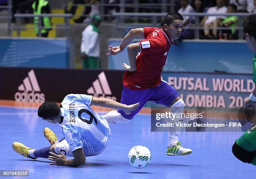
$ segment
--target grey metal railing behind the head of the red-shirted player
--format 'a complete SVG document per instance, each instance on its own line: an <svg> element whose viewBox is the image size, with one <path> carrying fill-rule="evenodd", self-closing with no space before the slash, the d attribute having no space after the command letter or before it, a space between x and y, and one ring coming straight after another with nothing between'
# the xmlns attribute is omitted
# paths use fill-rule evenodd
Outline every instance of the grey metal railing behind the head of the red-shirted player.
<svg viewBox="0 0 256 179"><path fill-rule="evenodd" d="M243 27L242 27L242 22L243 18L248 16L250 13L226 13L226 14L207 14L207 13L189 13L189 14L182 14L183 16L189 16L189 17L195 17L195 26L192 27L184 27L183 29L194 29L195 30L195 39L199 39L199 31L203 29L210 29L210 30L230 30L231 28L225 28L225 27L209 27L205 28L200 26L200 20L199 17L205 17L205 16L232 16L236 15L238 16L238 27L232 28L236 29L239 31L238 33L238 38L243 39ZM147 24L149 26L154 26L154 27L160 27L159 23L157 22L157 19L159 18L164 18L166 13L113 13L113 16L115 16L115 30L118 28L121 29L129 29L129 28L140 28L143 27L143 25L146 24L125 24L125 18L143 18L143 17L149 17L151 18L152 22L150 24ZM116 33L115 33L116 34Z"/></svg>

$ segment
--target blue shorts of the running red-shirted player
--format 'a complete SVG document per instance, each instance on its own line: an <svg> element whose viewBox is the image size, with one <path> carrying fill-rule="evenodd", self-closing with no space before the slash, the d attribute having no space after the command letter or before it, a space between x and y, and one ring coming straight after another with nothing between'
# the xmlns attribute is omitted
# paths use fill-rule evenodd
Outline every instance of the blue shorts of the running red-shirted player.
<svg viewBox="0 0 256 179"><path fill-rule="evenodd" d="M177 91L163 80L161 80L161 83L157 87L145 90L131 90L127 87L123 87L121 103L132 105L139 102L140 106L137 110L132 111L130 115L126 115L123 110L118 110L118 113L126 119L132 119L140 112L146 102L152 101L169 107L176 97L179 97Z"/></svg>

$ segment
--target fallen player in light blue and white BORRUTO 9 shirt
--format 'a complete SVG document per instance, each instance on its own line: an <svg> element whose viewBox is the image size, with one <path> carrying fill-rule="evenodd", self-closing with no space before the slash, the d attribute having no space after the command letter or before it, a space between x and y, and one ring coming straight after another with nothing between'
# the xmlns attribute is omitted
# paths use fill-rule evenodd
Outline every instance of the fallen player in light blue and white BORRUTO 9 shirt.
<svg viewBox="0 0 256 179"><path fill-rule="evenodd" d="M14 142L13 149L31 159L48 158L53 161L50 165L84 164L85 157L99 155L105 150L110 135L108 118L95 113L90 105L120 109L130 114L138 108L139 103L125 105L105 98L80 94L67 95L60 106L55 102L44 102L38 108L38 116L49 123L59 123L64 138L58 141L57 136L49 128L45 128L44 136L51 146L35 150ZM67 159L66 156L74 158Z"/></svg>

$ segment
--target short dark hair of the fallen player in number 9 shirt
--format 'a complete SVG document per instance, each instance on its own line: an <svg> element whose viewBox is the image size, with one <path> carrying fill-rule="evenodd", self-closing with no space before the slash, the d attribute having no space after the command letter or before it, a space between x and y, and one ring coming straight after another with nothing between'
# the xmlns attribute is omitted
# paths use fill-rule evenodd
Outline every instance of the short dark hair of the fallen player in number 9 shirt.
<svg viewBox="0 0 256 179"><path fill-rule="evenodd" d="M52 101L46 101L38 108L38 116L40 118L49 119L53 118L61 112L60 107Z"/></svg>

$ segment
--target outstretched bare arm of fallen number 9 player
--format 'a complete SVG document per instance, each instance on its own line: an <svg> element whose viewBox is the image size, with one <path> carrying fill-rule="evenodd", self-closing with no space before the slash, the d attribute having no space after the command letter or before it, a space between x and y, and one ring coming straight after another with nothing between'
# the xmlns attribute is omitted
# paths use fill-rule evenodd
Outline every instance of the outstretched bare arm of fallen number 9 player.
<svg viewBox="0 0 256 179"><path fill-rule="evenodd" d="M125 112L125 114L131 114L131 112L133 110L138 109L140 103L138 102L138 103L133 104L133 105L125 105L125 104L122 104L120 102L116 102L114 100L93 97L91 105L101 106L101 107L109 107L109 108L113 108L113 109L119 109L119 110L123 110Z"/></svg>

